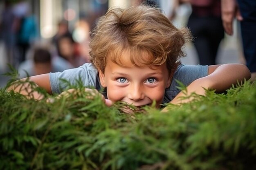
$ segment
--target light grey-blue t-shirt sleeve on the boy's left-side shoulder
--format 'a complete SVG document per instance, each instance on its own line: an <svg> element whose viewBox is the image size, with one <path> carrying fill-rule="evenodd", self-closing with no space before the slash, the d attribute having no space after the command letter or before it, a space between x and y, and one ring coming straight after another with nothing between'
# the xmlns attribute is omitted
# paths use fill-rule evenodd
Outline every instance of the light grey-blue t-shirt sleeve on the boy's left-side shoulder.
<svg viewBox="0 0 256 170"><path fill-rule="evenodd" d="M79 79L83 82L83 86L96 87L98 71L92 64L83 64L78 68L72 68L63 72L50 73L49 79L52 93L61 93L68 88L68 85L76 85ZM65 83L62 79L67 80Z"/></svg>

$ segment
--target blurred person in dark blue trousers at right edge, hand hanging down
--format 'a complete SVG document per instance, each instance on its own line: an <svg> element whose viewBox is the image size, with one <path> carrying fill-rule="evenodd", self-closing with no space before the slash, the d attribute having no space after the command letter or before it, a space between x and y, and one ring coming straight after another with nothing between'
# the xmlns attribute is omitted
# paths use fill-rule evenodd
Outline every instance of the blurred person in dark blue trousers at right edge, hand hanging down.
<svg viewBox="0 0 256 170"><path fill-rule="evenodd" d="M233 35L233 20L240 21L246 66L256 80L256 0L221 0L222 21L225 32Z"/></svg>

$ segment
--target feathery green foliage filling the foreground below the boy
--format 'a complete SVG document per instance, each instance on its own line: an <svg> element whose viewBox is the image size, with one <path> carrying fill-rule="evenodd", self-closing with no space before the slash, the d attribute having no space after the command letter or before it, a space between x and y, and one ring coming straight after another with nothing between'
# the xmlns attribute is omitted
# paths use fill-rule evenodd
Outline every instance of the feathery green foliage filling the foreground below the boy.
<svg viewBox="0 0 256 170"><path fill-rule="evenodd" d="M135 114L84 91L47 102L35 90L44 99L0 89L1 170L256 169L256 84Z"/></svg>

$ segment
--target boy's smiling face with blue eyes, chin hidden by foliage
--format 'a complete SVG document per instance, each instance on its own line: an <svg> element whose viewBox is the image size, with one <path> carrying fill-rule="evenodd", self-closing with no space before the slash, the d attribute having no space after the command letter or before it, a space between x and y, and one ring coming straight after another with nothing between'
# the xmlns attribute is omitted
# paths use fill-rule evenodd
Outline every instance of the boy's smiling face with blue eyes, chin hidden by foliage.
<svg viewBox="0 0 256 170"><path fill-rule="evenodd" d="M129 58L125 55L122 57ZM100 82L107 88L108 99L137 107L150 105L155 100L156 106L159 107L165 88L171 84L166 64L138 67L132 66L129 59L123 62L127 67L107 60L105 73L99 71Z"/></svg>

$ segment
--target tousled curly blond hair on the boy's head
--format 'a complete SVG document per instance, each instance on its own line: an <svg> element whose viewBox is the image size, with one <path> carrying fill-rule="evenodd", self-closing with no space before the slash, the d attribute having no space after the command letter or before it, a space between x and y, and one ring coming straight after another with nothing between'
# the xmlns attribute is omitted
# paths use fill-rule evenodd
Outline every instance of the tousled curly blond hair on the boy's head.
<svg viewBox="0 0 256 170"><path fill-rule="evenodd" d="M160 9L143 5L109 9L92 34L90 59L103 73L107 57L124 66L122 54L128 52L132 64L145 66L166 62L172 74L180 64L179 58L184 56L182 46L191 38L187 28L176 28ZM143 57L145 53L150 60Z"/></svg>

